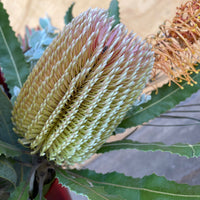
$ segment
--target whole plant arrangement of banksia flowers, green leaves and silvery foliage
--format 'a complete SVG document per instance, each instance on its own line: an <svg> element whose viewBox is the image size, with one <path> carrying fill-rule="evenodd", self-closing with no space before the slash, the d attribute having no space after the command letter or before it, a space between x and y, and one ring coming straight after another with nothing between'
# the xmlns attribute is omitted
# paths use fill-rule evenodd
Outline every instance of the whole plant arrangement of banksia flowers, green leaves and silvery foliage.
<svg viewBox="0 0 200 200"><path fill-rule="evenodd" d="M199 185L74 167L119 149L199 157L198 143L106 141L200 89L200 1L146 40L127 34L117 0L75 18L73 6L61 32L44 18L16 37L0 2L0 199L71 199L68 189L92 200L200 199ZM167 83L158 88L160 76Z"/></svg>

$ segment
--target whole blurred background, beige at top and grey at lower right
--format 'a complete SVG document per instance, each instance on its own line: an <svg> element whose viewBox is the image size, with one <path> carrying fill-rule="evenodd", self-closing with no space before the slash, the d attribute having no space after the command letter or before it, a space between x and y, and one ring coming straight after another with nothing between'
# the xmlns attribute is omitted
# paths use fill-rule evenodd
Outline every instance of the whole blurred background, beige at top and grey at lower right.
<svg viewBox="0 0 200 200"><path fill-rule="evenodd" d="M71 0L2 0L5 8L10 15L10 23L16 33L24 34L25 25L37 27L40 17L48 14L52 19L52 24L60 30L64 26L64 15L72 4ZM171 19L175 15L178 5L184 3L183 0L119 0L121 22L128 30L133 30L138 35L145 38L147 35L156 33L158 26L165 19ZM109 0L79 0L75 2L73 15L89 9L100 7L107 9ZM183 91L184 92L184 91ZM194 94L181 105L197 104L200 102L200 92ZM182 108L183 109L183 108ZM187 107L185 108L187 109ZM200 107L194 109L200 110ZM194 113L187 114L194 117ZM199 113L196 113L199 117ZM150 124L176 124L189 123L187 120L169 121L157 118ZM140 142L163 142L166 144L174 143L197 143L200 142L199 125L185 127L156 127L143 126L128 136L133 129L117 138L128 137ZM79 166L80 167L80 166ZM187 159L172 155L167 152L139 152L136 150L113 151L101 156L95 156L81 167L87 167L97 172L107 173L118 171L127 176L143 177L152 173L166 176L169 180L181 183L200 184L200 159ZM85 200L72 193L74 200Z"/></svg>

